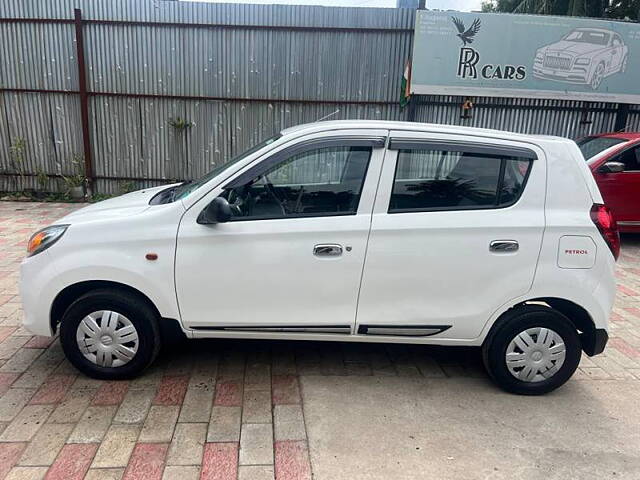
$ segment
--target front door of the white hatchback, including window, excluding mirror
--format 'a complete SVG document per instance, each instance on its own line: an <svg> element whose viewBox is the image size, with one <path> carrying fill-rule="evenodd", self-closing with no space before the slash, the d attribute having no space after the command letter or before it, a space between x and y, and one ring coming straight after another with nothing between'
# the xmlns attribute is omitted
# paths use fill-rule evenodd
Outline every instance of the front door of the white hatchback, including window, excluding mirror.
<svg viewBox="0 0 640 480"><path fill-rule="evenodd" d="M298 142L196 203L176 253L184 326L350 334L383 146L337 134ZM231 221L198 224L218 195Z"/></svg>

